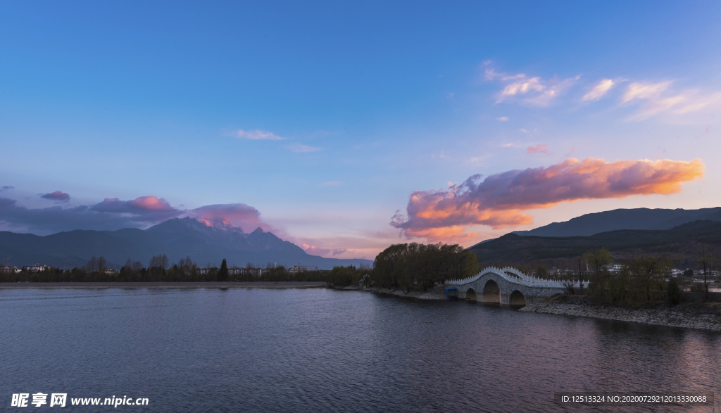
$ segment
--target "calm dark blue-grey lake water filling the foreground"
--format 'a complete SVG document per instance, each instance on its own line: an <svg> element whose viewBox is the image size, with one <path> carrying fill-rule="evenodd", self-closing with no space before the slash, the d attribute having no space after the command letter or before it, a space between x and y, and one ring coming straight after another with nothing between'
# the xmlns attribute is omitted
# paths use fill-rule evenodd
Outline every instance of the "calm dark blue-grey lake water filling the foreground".
<svg viewBox="0 0 721 413"><path fill-rule="evenodd" d="M5 407L42 391L148 397L146 412L579 412L554 393L721 394L721 334L464 301L0 290L0 314Z"/></svg>

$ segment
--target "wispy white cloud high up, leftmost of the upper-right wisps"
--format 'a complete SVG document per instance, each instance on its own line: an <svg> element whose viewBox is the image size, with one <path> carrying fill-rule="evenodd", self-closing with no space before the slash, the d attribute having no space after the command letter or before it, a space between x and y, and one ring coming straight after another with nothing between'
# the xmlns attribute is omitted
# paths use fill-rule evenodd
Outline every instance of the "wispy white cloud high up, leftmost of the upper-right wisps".
<svg viewBox="0 0 721 413"><path fill-rule="evenodd" d="M500 81L505 86L496 96L496 103L504 102L507 99L523 97L520 102L531 106L549 106L554 99L575 84L580 76L569 79L541 79L539 76L526 76L526 74L503 74L492 68L486 68L485 79L487 81Z"/></svg>

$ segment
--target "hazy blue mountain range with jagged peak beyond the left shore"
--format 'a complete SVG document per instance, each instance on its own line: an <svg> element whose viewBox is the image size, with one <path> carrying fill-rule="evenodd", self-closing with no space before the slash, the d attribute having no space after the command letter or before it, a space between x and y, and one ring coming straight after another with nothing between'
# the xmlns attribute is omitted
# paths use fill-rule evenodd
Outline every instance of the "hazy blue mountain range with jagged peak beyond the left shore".
<svg viewBox="0 0 721 413"><path fill-rule="evenodd" d="M71 268L103 256L119 267L130 258L148 265L156 254L167 254L170 262L190 255L198 264L220 265L225 258L229 265L245 266L248 262L265 266L311 265L329 270L336 265L371 265L368 259L334 259L309 255L273 233L257 228L246 233L226 222L206 226L193 218L173 218L141 230L125 228L118 231L68 231L48 236L0 232L0 259L11 265L36 262L54 267ZM3 262L4 264L4 262Z"/></svg>

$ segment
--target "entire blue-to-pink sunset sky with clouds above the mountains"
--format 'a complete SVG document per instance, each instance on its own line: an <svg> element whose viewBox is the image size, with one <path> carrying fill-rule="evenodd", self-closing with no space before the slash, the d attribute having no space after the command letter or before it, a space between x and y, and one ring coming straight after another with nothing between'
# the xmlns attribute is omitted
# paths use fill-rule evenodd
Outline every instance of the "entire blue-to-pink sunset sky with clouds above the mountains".
<svg viewBox="0 0 721 413"><path fill-rule="evenodd" d="M0 4L0 230L311 254L721 206L718 1Z"/></svg>

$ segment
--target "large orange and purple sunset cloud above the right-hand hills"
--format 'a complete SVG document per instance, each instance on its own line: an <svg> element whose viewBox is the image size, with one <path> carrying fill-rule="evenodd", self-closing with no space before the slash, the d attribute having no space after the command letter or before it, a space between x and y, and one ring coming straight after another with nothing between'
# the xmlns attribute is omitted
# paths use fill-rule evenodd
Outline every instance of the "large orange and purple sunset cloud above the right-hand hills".
<svg viewBox="0 0 721 413"><path fill-rule="evenodd" d="M681 191L682 182L703 174L700 159L567 159L549 167L502 172L482 181L481 175L473 175L448 190L412 192L406 213L396 213L390 225L407 238L463 239L473 235L465 234L466 226L528 225L533 217L526 210L576 200L668 195Z"/></svg>

